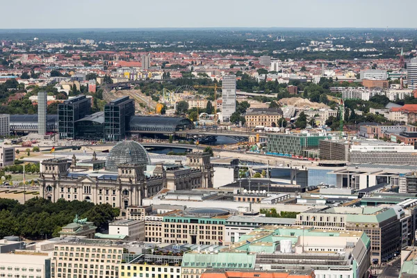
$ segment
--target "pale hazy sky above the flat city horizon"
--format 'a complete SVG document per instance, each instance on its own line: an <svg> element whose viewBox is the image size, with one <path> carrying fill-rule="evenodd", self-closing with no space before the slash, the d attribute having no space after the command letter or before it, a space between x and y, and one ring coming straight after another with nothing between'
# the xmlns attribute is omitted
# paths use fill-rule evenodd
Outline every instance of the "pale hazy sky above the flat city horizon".
<svg viewBox="0 0 417 278"><path fill-rule="evenodd" d="M0 28L417 28L417 0L8 0Z"/></svg>

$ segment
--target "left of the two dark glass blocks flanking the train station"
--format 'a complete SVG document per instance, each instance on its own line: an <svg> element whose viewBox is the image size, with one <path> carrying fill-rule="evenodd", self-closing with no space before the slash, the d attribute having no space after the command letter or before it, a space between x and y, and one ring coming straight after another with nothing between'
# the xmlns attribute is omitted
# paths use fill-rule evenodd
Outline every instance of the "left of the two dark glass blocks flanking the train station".
<svg viewBox="0 0 417 278"><path fill-rule="evenodd" d="M91 100L80 95L58 104L58 132L61 139L75 138L75 122L91 114Z"/></svg>

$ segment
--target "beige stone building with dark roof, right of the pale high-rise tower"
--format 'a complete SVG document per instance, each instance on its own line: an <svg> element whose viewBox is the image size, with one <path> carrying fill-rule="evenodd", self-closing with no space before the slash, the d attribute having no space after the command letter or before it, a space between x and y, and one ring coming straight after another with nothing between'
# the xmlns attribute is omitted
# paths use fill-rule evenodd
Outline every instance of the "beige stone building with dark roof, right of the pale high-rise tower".
<svg viewBox="0 0 417 278"><path fill-rule="evenodd" d="M249 108L245 114L246 126L278 126L282 117L281 108Z"/></svg>

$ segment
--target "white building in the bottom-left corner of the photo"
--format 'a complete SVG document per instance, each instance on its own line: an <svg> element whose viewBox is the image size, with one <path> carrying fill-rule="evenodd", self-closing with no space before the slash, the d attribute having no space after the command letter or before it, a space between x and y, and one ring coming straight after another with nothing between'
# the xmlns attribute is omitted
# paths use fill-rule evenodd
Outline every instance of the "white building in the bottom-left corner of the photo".
<svg viewBox="0 0 417 278"><path fill-rule="evenodd" d="M2 253L0 277L51 278L51 258L49 254L40 252Z"/></svg>

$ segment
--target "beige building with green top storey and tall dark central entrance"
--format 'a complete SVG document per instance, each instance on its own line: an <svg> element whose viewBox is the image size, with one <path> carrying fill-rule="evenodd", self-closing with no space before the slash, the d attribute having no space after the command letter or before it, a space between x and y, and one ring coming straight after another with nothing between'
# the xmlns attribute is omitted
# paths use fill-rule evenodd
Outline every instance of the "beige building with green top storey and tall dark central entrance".
<svg viewBox="0 0 417 278"><path fill-rule="evenodd" d="M230 213L222 208L190 208L163 217L163 243L222 245L224 222Z"/></svg>

